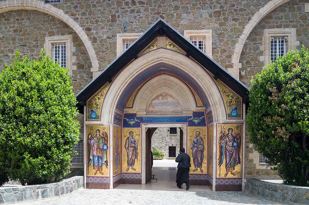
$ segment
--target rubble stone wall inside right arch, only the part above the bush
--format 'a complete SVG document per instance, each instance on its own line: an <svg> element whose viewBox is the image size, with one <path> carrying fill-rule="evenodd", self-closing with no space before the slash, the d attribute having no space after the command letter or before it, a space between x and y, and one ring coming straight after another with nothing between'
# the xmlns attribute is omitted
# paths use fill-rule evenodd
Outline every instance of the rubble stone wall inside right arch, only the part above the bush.
<svg viewBox="0 0 309 205"><path fill-rule="evenodd" d="M305 12L305 3L308 1L292 0L279 6L266 15L252 30L239 61L242 64L241 70L245 71L244 76L240 75L239 80L246 86L251 86L252 76L255 76L264 67L264 59L260 56L264 56L261 46L265 29L295 28L296 40L299 41L296 49L300 49L302 45L309 48L309 12Z"/></svg>

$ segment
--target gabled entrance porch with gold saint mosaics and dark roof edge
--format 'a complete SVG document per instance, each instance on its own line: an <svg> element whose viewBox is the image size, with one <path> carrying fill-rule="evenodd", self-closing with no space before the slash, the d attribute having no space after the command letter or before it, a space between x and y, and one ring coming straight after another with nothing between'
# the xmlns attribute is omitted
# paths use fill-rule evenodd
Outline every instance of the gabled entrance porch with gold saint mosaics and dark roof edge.
<svg viewBox="0 0 309 205"><path fill-rule="evenodd" d="M192 184L242 190L247 97L241 82L159 19L77 95L79 110L84 106L85 141L102 138L91 132L96 129L108 135L104 175L91 174L102 165L90 166L95 155L88 150L94 145L85 144L85 186L146 183L146 128L185 124L183 145L192 157ZM226 153L226 133L231 139L236 133L241 136L237 138L240 161L231 165L226 163L233 157ZM203 139L198 147L195 136ZM204 157L194 159L195 148L194 153L202 152L199 156Z"/></svg>

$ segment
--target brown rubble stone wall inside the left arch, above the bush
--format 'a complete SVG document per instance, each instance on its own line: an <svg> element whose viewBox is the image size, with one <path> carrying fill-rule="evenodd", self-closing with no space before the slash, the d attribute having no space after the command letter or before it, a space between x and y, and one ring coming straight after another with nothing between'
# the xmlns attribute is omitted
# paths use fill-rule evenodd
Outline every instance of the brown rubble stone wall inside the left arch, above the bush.
<svg viewBox="0 0 309 205"><path fill-rule="evenodd" d="M71 80L73 92L77 94L91 80L91 61L82 40L66 23L34 10L13 10L0 14L0 69L14 60L15 51L19 49L21 56L29 55L38 60L44 48L45 37L72 35L72 70Z"/></svg>

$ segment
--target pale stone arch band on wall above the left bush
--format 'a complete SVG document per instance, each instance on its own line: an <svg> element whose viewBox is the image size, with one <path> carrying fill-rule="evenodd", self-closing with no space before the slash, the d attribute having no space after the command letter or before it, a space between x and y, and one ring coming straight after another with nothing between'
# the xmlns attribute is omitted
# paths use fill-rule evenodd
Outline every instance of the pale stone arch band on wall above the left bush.
<svg viewBox="0 0 309 205"><path fill-rule="evenodd" d="M89 40L85 31L76 23L70 16L66 15L63 10L58 9L51 4L45 4L43 1L38 0L6 0L0 2L0 14L11 10L37 10L49 15L52 15L71 27L83 41L88 55L91 60L91 71L95 72L99 70L99 61L95 54L95 50Z"/></svg>

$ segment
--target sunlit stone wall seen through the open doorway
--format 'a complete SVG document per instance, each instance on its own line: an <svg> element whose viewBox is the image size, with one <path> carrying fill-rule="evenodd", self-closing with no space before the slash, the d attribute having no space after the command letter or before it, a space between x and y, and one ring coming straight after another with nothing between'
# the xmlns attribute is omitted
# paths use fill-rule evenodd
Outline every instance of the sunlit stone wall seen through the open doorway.
<svg viewBox="0 0 309 205"><path fill-rule="evenodd" d="M180 129L177 134L170 134L168 128L157 128L151 138L151 148L155 147L164 154L163 159L168 159L168 146L176 146L176 155L180 149Z"/></svg>

